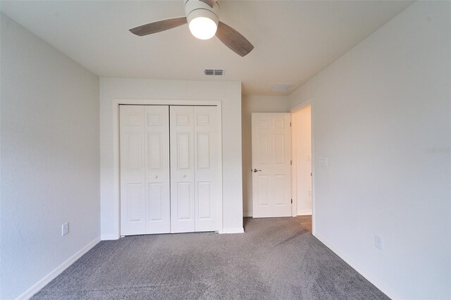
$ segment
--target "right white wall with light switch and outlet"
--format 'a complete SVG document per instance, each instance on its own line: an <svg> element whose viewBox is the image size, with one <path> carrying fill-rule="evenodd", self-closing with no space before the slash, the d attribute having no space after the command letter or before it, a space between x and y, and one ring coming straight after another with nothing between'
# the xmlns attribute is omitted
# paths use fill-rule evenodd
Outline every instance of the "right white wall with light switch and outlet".
<svg viewBox="0 0 451 300"><path fill-rule="evenodd" d="M290 96L313 104L316 237L403 299L451 298L450 11L415 2Z"/></svg>

